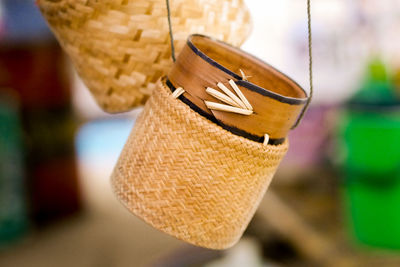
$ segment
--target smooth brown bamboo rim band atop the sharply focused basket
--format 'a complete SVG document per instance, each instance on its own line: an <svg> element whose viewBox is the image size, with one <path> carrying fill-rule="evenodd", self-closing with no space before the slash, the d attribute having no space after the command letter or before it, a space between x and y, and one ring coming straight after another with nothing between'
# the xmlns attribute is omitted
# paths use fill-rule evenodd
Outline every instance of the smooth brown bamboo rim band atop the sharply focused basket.
<svg viewBox="0 0 400 267"><path fill-rule="evenodd" d="M282 72L238 48L199 34L188 38L167 84L172 90L183 88L180 99L201 115L258 142L267 135L270 143L282 143L308 100L300 85ZM221 84L240 99L242 94L252 113L210 108L209 102L227 104L209 93L212 88L226 94Z"/></svg>

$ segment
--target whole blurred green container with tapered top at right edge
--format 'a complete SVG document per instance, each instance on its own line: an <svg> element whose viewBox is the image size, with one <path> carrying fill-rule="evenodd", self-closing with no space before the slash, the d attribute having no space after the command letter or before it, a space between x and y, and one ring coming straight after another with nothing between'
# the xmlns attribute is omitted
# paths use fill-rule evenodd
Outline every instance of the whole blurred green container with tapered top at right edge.
<svg viewBox="0 0 400 267"><path fill-rule="evenodd" d="M344 204L355 238L400 249L400 101L373 60L340 125Z"/></svg>

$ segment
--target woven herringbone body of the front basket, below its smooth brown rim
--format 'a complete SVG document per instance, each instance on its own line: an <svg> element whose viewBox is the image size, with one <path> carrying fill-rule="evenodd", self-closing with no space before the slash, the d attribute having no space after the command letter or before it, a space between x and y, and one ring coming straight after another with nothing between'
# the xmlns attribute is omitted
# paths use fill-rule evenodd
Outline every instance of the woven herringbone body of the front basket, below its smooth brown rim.
<svg viewBox="0 0 400 267"><path fill-rule="evenodd" d="M162 82L112 174L118 199L155 228L212 249L234 245L288 149L234 135Z"/></svg>

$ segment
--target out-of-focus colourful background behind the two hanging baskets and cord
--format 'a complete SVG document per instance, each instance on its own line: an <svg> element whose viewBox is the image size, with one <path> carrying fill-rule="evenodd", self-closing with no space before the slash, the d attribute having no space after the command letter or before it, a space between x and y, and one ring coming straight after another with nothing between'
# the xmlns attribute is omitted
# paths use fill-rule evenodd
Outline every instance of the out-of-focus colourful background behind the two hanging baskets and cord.
<svg viewBox="0 0 400 267"><path fill-rule="evenodd" d="M308 88L306 1L246 0L243 49ZM0 266L400 266L400 0L312 1L315 99L242 240L190 246L109 176L140 108L100 110L32 0L0 0Z"/></svg>

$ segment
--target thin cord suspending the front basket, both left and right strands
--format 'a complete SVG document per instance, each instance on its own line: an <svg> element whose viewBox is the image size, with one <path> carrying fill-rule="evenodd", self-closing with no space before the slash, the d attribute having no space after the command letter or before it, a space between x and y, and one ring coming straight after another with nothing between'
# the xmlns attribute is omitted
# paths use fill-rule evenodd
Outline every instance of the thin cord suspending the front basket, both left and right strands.
<svg viewBox="0 0 400 267"><path fill-rule="evenodd" d="M171 41L171 57L175 62L175 46L174 46L174 36L172 32L172 23L171 23L171 10L169 5L169 0L166 0L167 4L167 12L168 12L168 26L169 26L169 37ZM314 86L313 86L313 58L312 58L312 31L311 31L311 0L307 0L307 30L308 30L308 73L309 73L309 81L310 81L310 93L308 96L307 103L305 104L303 110L301 111L299 118L296 123L293 125L292 129L299 126L301 120L304 118L306 111L308 110L311 100L314 95Z"/></svg>

